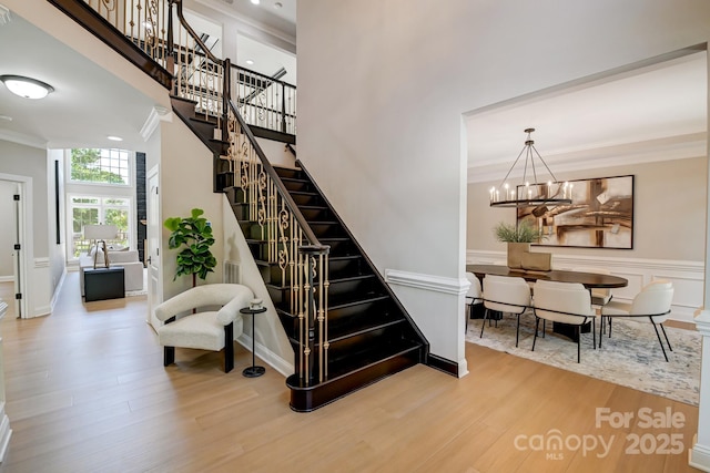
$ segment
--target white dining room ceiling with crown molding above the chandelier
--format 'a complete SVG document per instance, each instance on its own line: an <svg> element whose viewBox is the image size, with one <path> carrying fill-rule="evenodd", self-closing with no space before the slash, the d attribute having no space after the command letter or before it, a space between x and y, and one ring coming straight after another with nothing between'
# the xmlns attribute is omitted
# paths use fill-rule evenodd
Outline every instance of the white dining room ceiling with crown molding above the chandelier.
<svg viewBox="0 0 710 473"><path fill-rule="evenodd" d="M707 71L707 52L694 52L473 112L468 181L501 181L529 127L552 173L706 155Z"/></svg>

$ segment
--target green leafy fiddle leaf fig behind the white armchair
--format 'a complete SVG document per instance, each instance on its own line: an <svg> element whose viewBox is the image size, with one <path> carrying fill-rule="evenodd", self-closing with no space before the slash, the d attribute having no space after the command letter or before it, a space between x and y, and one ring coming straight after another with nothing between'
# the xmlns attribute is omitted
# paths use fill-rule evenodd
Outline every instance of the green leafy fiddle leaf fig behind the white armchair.
<svg viewBox="0 0 710 473"><path fill-rule="evenodd" d="M212 226L202 217L203 214L201 208L193 208L190 217L170 217L163 222L163 226L171 232L168 247L182 248L178 253L178 268L173 280L178 276L192 275L193 287L197 285L197 277L204 280L207 273L214 273L213 268L217 264L210 250L214 245Z"/></svg>

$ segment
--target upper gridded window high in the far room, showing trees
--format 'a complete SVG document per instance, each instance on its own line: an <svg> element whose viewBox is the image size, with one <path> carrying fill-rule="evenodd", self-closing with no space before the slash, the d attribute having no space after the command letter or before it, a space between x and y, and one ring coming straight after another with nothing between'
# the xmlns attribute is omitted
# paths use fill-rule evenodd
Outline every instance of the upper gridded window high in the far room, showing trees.
<svg viewBox="0 0 710 473"><path fill-rule="evenodd" d="M71 151L69 178L75 183L131 184L131 153L125 150Z"/></svg>

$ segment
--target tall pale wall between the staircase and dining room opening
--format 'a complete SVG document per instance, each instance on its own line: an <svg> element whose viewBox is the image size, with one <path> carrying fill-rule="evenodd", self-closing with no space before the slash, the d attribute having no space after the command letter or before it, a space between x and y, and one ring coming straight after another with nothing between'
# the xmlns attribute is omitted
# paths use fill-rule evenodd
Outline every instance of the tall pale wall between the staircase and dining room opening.
<svg viewBox="0 0 710 473"><path fill-rule="evenodd" d="M302 0L297 18L300 160L381 270L452 282L476 213L462 114L710 37L702 0ZM464 363L463 298L397 291Z"/></svg>

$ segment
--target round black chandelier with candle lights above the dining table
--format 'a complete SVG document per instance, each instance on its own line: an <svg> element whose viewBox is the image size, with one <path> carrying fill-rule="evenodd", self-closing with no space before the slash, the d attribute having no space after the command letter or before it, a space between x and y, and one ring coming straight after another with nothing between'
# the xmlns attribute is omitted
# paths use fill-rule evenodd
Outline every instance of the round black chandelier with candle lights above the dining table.
<svg viewBox="0 0 710 473"><path fill-rule="evenodd" d="M571 204L572 185L570 183L560 183L557 181L550 168L540 156L540 153L535 148L535 142L530 140L530 133L535 128L526 128L525 133L528 134L528 138L525 141L525 146L516 157L513 166L508 171L508 174L503 178L503 182L498 187L490 188L490 206L491 207L530 207L530 206L555 206L559 204ZM508 182L510 173L516 167L520 157L525 155L525 167L523 169L523 179L519 184L511 184ZM539 160L549 175L548 181L538 181L538 164L536 167L535 160ZM532 182L528 177L528 168L532 175ZM542 176L540 176L542 177Z"/></svg>

